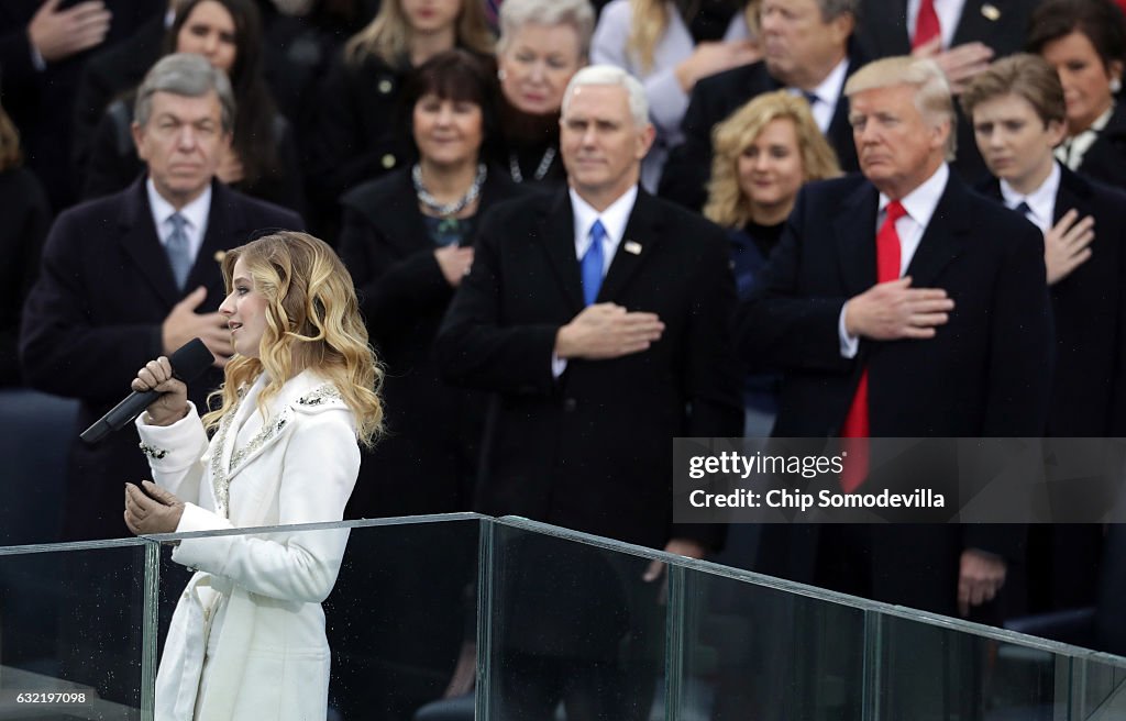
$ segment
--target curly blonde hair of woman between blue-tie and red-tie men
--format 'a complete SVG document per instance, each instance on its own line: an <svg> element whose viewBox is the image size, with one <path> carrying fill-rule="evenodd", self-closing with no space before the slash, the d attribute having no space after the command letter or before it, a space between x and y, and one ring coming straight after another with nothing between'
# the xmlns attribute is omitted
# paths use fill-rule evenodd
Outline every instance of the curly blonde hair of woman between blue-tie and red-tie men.
<svg viewBox="0 0 1126 721"><path fill-rule="evenodd" d="M742 227L751 219L751 201L739 186L739 156L772 120L794 124L805 182L841 174L837 153L810 112L810 103L786 90L756 97L712 130L712 180L704 216L723 227Z"/></svg>

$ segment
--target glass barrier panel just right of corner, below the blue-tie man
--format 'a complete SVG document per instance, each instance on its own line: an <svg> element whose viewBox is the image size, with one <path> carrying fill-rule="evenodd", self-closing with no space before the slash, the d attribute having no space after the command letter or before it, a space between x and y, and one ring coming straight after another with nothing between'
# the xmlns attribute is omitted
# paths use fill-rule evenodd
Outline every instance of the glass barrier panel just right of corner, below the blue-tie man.
<svg viewBox="0 0 1126 721"><path fill-rule="evenodd" d="M485 718L650 718L667 665L667 589L650 560L498 524Z"/></svg>

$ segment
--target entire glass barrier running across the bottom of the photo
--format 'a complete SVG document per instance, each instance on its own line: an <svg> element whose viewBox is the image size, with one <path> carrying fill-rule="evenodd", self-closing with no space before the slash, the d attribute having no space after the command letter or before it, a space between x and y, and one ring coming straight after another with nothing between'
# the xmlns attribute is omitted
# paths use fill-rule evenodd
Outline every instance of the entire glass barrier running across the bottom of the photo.
<svg viewBox="0 0 1126 721"><path fill-rule="evenodd" d="M0 721L157 706L1101 721L1126 718L1126 659L512 517L0 548Z"/></svg>

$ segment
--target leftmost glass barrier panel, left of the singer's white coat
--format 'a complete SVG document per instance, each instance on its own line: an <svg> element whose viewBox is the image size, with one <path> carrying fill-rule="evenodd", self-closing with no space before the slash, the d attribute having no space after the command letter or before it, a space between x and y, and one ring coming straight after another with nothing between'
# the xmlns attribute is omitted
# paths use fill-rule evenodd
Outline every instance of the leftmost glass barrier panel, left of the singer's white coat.
<svg viewBox="0 0 1126 721"><path fill-rule="evenodd" d="M141 719L152 570L136 539L0 549L0 719Z"/></svg>

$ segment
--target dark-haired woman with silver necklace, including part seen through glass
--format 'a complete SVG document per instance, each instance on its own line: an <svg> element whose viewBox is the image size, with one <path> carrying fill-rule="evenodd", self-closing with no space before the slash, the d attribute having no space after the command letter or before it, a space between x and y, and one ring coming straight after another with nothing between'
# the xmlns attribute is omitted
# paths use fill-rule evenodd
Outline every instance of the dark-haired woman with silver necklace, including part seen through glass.
<svg viewBox="0 0 1126 721"><path fill-rule="evenodd" d="M490 63L446 51L409 75L402 93L418 162L341 199L340 255L387 371L387 433L364 453L348 517L471 508L486 399L439 378L434 339L473 263L479 219L518 191L482 160L495 133ZM409 719L441 695L454 668L473 550L422 546L409 559L383 555L374 575L343 569L337 607L359 615L341 619L334 669L343 687L367 692L363 705L341 709L346 718Z"/></svg>

